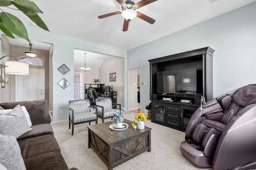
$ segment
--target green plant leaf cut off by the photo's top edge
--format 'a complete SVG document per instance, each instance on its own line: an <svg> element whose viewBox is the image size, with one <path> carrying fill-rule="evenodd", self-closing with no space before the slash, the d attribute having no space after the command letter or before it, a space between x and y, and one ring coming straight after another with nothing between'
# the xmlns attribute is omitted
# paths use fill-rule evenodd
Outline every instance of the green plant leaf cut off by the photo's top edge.
<svg viewBox="0 0 256 170"><path fill-rule="evenodd" d="M37 13L43 13L34 2L29 0L14 0L11 3L21 10L27 16L33 16Z"/></svg>

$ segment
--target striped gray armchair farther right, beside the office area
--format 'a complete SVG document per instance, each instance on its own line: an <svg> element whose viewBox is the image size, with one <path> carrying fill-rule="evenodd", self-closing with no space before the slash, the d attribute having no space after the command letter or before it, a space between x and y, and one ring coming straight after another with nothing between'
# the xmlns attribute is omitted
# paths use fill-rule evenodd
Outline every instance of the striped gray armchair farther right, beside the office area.
<svg viewBox="0 0 256 170"><path fill-rule="evenodd" d="M121 110L121 104L112 104L111 98L98 98L95 101L96 107L98 108L98 117L102 119L102 123L104 122L104 119L113 119L113 113L116 111L116 109L113 109L113 106L117 105Z"/></svg>

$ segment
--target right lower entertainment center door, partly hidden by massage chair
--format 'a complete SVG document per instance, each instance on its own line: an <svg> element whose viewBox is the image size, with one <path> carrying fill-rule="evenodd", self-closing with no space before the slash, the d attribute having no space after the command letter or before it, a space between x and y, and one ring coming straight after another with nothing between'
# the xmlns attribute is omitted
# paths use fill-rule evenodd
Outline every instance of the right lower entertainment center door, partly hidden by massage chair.
<svg viewBox="0 0 256 170"><path fill-rule="evenodd" d="M190 118L192 117L197 108L198 107L181 106L181 129L187 129Z"/></svg>

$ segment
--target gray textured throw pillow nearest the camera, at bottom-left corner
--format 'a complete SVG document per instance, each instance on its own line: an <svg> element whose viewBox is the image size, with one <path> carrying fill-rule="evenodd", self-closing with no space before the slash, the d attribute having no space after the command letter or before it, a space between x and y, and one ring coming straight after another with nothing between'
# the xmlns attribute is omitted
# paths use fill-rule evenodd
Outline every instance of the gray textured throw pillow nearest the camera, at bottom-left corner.
<svg viewBox="0 0 256 170"><path fill-rule="evenodd" d="M0 143L0 164L8 170L26 170L20 147L15 137L0 134Z"/></svg>

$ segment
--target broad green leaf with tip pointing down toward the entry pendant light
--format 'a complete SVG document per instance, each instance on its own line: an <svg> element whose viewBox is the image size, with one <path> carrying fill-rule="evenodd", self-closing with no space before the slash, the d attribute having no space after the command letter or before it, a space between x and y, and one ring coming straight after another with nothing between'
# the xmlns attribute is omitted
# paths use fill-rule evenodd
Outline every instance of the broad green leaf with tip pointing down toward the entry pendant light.
<svg viewBox="0 0 256 170"><path fill-rule="evenodd" d="M3 24L7 27L8 30L10 30L18 37L26 39L29 42L26 27L16 16L9 14L7 12L2 12L0 14L0 17L2 19Z"/></svg>

